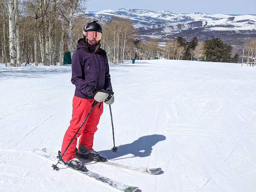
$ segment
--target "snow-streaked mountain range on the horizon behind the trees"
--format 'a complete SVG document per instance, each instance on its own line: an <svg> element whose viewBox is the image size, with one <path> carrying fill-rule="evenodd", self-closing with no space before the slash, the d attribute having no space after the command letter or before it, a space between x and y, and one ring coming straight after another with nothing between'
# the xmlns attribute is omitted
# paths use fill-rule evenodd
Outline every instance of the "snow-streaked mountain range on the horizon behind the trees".
<svg viewBox="0 0 256 192"><path fill-rule="evenodd" d="M138 9L88 11L91 18L107 22L112 16L132 20L140 39L158 38L166 41L182 36L199 40L219 36L230 44L241 44L256 38L256 15L224 15L206 13L177 13Z"/></svg>

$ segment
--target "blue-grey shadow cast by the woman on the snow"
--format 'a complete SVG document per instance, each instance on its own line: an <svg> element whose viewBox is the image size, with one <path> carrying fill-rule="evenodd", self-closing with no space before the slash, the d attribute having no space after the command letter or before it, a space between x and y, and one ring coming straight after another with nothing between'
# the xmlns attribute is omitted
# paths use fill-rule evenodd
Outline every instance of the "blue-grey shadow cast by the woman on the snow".
<svg viewBox="0 0 256 192"><path fill-rule="evenodd" d="M147 157L150 156L152 152L152 147L160 141L165 140L166 137L164 135L148 135L142 136L138 138L138 140L130 143L117 146L118 150L116 152L112 152L112 150L104 150L98 151L100 156L103 156L109 160L111 159L122 159L120 157L132 154L130 157L125 158L132 158L132 157Z"/></svg>

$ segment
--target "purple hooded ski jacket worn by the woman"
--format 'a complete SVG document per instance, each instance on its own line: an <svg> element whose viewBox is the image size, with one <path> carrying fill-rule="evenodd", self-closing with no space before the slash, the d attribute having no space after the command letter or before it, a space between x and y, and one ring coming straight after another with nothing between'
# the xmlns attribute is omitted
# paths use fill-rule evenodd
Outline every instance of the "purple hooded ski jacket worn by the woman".
<svg viewBox="0 0 256 192"><path fill-rule="evenodd" d="M91 99L94 91L112 90L106 52L97 45L88 44L89 52L84 50L84 42L78 40L77 50L72 58L71 82L76 86L75 96Z"/></svg>

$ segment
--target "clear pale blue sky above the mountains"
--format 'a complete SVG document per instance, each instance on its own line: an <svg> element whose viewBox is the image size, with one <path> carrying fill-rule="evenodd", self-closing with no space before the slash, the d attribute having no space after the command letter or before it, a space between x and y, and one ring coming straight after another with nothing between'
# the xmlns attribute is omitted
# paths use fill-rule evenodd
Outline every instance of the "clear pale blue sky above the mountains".
<svg viewBox="0 0 256 192"><path fill-rule="evenodd" d="M256 0L89 0L87 10L134 8L209 14L256 14Z"/></svg>

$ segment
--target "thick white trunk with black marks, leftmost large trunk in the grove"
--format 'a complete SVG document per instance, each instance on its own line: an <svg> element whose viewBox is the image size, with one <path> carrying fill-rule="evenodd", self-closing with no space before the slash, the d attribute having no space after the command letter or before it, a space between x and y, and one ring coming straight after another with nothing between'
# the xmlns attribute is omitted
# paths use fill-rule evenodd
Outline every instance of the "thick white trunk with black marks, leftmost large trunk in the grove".
<svg viewBox="0 0 256 192"><path fill-rule="evenodd" d="M10 48L10 66L16 66L16 49L15 49L15 30L14 30L14 5L13 0L8 1L9 9L9 48Z"/></svg>

